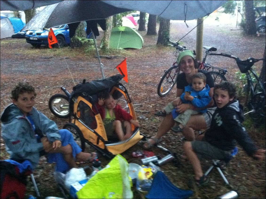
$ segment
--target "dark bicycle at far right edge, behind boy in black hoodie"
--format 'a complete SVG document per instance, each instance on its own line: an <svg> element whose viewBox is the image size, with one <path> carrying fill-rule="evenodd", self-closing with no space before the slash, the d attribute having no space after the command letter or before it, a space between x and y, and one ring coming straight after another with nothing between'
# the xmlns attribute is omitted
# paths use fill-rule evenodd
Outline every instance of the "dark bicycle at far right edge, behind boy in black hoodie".
<svg viewBox="0 0 266 199"><path fill-rule="evenodd" d="M249 114L256 124L265 123L265 82L262 83L256 72L252 69L252 66L256 62L264 59L254 59L250 57L247 60L240 60L236 56L225 53L210 53L210 55L219 55L236 60L240 72L245 73L247 78L247 86L244 85L244 89L247 90L244 105L247 107L248 112L244 113L244 115ZM251 74L255 77L255 82L253 82Z"/></svg>

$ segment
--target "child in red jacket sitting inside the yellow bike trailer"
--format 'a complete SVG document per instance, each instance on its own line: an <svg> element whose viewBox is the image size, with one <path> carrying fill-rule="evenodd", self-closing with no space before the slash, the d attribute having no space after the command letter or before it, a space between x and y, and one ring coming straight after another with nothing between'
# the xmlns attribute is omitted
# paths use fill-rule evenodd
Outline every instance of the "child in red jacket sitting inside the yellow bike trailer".
<svg viewBox="0 0 266 199"><path fill-rule="evenodd" d="M106 135L109 139L126 140L132 135L131 124L139 126L139 122L122 109L110 94L101 95L96 107L102 117Z"/></svg>

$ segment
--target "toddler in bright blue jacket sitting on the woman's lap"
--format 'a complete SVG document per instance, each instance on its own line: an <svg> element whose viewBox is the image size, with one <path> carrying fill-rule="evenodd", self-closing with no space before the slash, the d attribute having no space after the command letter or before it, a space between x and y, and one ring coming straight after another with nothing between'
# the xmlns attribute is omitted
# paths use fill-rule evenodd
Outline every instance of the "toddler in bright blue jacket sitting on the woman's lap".
<svg viewBox="0 0 266 199"><path fill-rule="evenodd" d="M169 103L165 107L166 114L172 112L174 121L177 125L172 127L174 132L181 132L183 127L188 123L191 115L196 115L198 113L206 113L206 107L210 101L209 96L210 87L206 84L206 76L203 73L196 73L192 76L192 85L185 86L185 91L180 96L182 103L192 103L195 107L201 110L188 109L184 113L178 113L174 105Z"/></svg>

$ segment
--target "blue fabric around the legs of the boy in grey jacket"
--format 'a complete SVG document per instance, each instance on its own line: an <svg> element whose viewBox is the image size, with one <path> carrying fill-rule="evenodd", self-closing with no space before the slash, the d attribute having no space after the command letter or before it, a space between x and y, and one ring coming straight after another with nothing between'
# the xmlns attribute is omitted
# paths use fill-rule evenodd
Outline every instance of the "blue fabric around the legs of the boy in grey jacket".
<svg viewBox="0 0 266 199"><path fill-rule="evenodd" d="M59 130L59 134L61 135L62 146L70 144L72 147L72 155L74 158L76 158L76 154L80 153L82 150L74 141L72 133L66 129L61 129ZM61 153L48 154L48 162L49 163L56 162L55 171L65 173L66 171L69 170L69 166L64 160L64 157Z"/></svg>

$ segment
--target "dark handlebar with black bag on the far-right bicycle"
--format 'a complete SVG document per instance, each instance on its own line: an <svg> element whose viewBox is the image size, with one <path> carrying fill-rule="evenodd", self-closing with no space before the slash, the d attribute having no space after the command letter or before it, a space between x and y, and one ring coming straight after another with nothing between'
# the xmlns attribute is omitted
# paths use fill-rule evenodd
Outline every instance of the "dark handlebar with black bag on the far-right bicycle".
<svg viewBox="0 0 266 199"><path fill-rule="evenodd" d="M224 56L224 57L229 57L232 58L234 60L236 60L236 64L238 65L238 68L240 69L240 71L242 73L246 73L248 72L248 70L251 69L251 67L258 61L260 60L264 60L263 58L261 59L255 59L253 57L249 57L247 60L241 60L236 56L233 55L228 55L225 53L209 53L209 55L220 55L220 56Z"/></svg>

